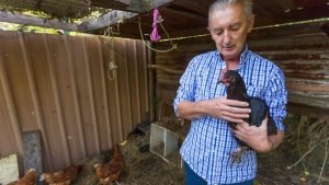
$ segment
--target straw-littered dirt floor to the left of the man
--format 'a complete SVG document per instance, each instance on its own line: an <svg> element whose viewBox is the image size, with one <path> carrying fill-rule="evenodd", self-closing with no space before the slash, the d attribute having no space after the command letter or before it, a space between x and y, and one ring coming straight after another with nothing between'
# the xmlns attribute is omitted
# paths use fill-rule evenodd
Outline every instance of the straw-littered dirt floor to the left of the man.
<svg viewBox="0 0 329 185"><path fill-rule="evenodd" d="M139 143L145 137L135 135L121 147L125 159L125 169L114 185L181 185L184 174L180 164L166 162L160 157L147 152L139 152ZM178 152L178 151L175 151ZM94 164L107 162L112 151L104 152L86 160L86 167L73 182L75 185L98 185Z"/></svg>

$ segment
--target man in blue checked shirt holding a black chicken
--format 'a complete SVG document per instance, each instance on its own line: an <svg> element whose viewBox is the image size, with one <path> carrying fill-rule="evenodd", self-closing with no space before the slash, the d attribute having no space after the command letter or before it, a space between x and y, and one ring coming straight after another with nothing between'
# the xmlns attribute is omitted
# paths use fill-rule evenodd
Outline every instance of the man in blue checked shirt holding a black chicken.
<svg viewBox="0 0 329 185"><path fill-rule="evenodd" d="M192 120L181 148L188 185L252 185L256 152L275 149L284 137L284 74L248 49L246 39L253 20L251 0L215 1L208 13L208 30L217 50L194 57L181 77L173 104L179 117ZM260 127L249 126L243 122L250 113L248 104L225 99L225 85L218 83L225 68L241 74L249 95L265 100L277 135L268 137L266 120ZM237 123L237 129L229 129L228 122ZM236 138L253 149L245 152L239 163L230 155L239 148Z"/></svg>

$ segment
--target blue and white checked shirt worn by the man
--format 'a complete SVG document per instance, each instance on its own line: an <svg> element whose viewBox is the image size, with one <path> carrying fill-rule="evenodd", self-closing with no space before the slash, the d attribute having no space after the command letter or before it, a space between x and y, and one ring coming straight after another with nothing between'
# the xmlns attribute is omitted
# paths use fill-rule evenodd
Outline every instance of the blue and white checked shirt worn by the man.
<svg viewBox="0 0 329 185"><path fill-rule="evenodd" d="M218 51L194 57L181 77L173 102L174 109L182 101L225 96L226 88L218 83L225 67ZM282 120L286 115L287 93L282 70L246 47L237 71L245 80L248 95L265 100L277 128L284 130ZM227 122L205 115L192 120L180 153L208 184L232 184L252 180L257 173L257 158L252 150L248 150L239 163L232 162L230 153L237 148L239 144Z"/></svg>

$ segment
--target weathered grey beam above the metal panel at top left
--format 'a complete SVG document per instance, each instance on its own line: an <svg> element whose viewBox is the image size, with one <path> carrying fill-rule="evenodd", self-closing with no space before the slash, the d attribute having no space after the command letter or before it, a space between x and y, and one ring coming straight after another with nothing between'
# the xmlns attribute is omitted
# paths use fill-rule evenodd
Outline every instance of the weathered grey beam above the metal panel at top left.
<svg viewBox="0 0 329 185"><path fill-rule="evenodd" d="M65 31L78 31L77 24L64 23L58 20L47 20L43 18L27 16L20 13L12 13L10 11L0 11L0 22L34 25Z"/></svg>

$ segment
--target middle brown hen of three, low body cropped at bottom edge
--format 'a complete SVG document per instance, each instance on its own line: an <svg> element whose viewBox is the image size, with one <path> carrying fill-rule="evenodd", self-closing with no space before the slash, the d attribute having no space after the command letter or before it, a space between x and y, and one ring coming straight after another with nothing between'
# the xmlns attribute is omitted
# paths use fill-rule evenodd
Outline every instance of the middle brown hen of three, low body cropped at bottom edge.
<svg viewBox="0 0 329 185"><path fill-rule="evenodd" d="M43 173L41 181L45 181L49 185L69 185L82 171L83 165L68 166L57 172Z"/></svg>

